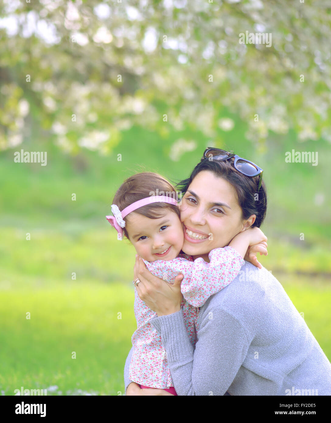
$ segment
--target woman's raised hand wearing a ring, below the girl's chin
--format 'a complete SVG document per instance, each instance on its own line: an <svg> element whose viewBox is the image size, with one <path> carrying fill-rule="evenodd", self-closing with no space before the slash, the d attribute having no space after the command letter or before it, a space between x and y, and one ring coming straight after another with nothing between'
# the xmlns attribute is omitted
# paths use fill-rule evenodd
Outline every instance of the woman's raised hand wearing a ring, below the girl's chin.
<svg viewBox="0 0 331 423"><path fill-rule="evenodd" d="M136 283L135 286L140 299L158 316L165 316L181 310L181 302L183 301L181 280L183 275L176 276L175 282L171 285L150 273L140 256L136 254L134 280L137 278L140 279L140 282Z"/></svg>

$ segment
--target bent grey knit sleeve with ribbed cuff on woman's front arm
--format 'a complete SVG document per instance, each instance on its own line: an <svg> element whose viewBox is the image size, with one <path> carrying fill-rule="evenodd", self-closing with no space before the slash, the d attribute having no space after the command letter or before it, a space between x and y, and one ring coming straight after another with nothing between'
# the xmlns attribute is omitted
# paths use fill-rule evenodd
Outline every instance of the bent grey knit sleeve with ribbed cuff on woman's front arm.
<svg viewBox="0 0 331 423"><path fill-rule="evenodd" d="M161 335L178 395L225 395L246 357L246 332L220 306L206 309L200 317L195 349L189 341L182 310L153 318L150 323Z"/></svg>

